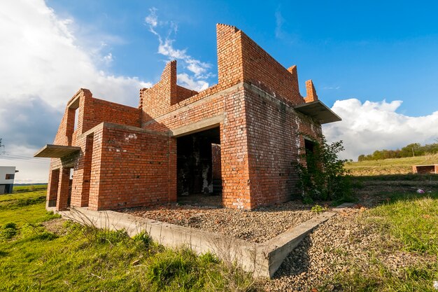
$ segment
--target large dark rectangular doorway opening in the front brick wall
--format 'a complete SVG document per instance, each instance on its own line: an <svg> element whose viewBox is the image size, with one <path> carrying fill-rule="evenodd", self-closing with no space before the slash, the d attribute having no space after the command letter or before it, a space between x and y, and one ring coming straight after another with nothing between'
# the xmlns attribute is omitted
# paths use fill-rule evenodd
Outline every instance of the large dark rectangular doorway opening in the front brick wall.
<svg viewBox="0 0 438 292"><path fill-rule="evenodd" d="M222 207L220 129L176 139L178 202Z"/></svg>

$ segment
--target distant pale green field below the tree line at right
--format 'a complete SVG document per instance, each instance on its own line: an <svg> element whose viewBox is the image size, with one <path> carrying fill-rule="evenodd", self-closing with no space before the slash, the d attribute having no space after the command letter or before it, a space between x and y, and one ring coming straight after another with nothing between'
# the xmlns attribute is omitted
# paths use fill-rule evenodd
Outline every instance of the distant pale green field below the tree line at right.
<svg viewBox="0 0 438 292"><path fill-rule="evenodd" d="M347 162L345 166L353 176L377 176L385 174L409 174L412 172L412 165L432 164L438 164L438 154L409 158Z"/></svg>

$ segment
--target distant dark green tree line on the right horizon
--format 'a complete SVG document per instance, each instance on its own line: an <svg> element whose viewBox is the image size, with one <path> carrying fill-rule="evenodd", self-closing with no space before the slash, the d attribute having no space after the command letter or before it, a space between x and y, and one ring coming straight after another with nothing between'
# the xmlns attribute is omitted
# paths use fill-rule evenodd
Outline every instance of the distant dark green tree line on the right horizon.
<svg viewBox="0 0 438 292"><path fill-rule="evenodd" d="M438 142L438 141L437 141ZM425 144L421 146L419 143L412 143L397 150L376 150L372 154L361 154L358 157L358 161L365 160L382 160L388 158L404 158L423 156L428 154L438 153L438 143Z"/></svg>

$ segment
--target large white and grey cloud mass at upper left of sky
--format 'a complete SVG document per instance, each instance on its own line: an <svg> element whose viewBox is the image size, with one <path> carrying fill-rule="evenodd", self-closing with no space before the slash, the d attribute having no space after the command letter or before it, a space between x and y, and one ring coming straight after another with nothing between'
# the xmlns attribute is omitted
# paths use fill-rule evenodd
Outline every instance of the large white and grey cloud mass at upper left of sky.
<svg viewBox="0 0 438 292"><path fill-rule="evenodd" d="M96 39L81 47L74 25L73 18L59 18L43 0L1 4L0 138L10 155L25 155L22 160L27 160L50 143L66 102L79 88L90 89L94 97L137 106L139 88L151 85L101 71L98 64L110 64L113 54L99 55L106 43ZM48 163L6 157L1 155L1 165L20 163L18 182L47 180Z"/></svg>

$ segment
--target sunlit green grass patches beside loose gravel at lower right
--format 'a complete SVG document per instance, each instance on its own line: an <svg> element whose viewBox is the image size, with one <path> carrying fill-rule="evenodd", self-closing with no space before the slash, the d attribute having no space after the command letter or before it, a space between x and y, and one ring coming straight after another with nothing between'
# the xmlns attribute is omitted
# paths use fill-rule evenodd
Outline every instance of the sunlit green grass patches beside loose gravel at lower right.
<svg viewBox="0 0 438 292"><path fill-rule="evenodd" d="M436 291L432 283L438 279L438 192L393 193L387 204L370 209L360 220L388 232L393 242L387 244L394 249L418 253L430 261L397 273L375 259L368 270L337 274L330 284L341 291Z"/></svg>

